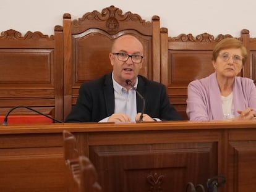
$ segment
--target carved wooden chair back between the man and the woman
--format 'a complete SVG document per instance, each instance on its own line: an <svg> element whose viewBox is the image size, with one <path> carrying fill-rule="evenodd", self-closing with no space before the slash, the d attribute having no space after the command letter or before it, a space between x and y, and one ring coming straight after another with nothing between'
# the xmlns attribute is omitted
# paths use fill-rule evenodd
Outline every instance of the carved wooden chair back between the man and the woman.
<svg viewBox="0 0 256 192"><path fill-rule="evenodd" d="M214 72L211 54L216 43L231 35L208 33L193 36L181 34L168 36L167 28L161 29L161 82L168 88L171 103L184 120L187 119L187 86L190 81L207 77ZM168 41L166 41L168 40Z"/></svg>

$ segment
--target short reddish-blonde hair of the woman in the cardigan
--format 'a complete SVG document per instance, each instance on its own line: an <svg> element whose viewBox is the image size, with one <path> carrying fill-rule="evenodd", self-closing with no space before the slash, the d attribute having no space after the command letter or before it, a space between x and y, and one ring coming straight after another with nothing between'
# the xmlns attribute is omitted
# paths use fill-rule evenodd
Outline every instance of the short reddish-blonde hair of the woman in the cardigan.
<svg viewBox="0 0 256 192"><path fill-rule="evenodd" d="M241 49L242 52L242 64L245 64L248 54L245 46L242 44L242 41L237 40L236 38L225 38L216 44L213 49L212 60L216 61L220 51L223 49Z"/></svg>

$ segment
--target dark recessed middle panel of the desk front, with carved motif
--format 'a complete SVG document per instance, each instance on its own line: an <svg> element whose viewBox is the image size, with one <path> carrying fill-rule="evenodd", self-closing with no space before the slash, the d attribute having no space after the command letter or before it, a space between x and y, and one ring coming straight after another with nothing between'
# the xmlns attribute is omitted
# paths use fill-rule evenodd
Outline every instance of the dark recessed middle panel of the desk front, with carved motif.
<svg viewBox="0 0 256 192"><path fill-rule="evenodd" d="M185 191L217 174L216 143L92 146L105 191ZM211 158L213 157L213 158Z"/></svg>

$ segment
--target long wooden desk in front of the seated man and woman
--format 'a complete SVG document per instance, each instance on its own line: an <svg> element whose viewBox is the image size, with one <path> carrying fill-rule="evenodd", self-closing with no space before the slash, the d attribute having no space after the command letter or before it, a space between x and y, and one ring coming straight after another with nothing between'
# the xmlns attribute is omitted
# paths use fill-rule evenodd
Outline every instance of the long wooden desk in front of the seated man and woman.
<svg viewBox="0 0 256 192"><path fill-rule="evenodd" d="M185 191L218 174L227 178L218 191L255 191L255 122L0 126L0 189L74 191L63 130L74 133L105 192Z"/></svg>

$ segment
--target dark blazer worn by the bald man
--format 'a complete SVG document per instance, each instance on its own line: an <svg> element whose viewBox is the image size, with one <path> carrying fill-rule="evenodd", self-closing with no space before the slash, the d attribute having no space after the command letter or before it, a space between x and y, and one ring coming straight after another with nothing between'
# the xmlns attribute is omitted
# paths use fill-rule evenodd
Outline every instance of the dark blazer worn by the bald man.
<svg viewBox="0 0 256 192"><path fill-rule="evenodd" d="M166 87L139 75L137 91L145 99L145 114L161 120L182 120L170 104ZM142 99L137 96L137 112L142 110ZM65 122L99 122L114 113L114 88L111 73L83 83L77 103Z"/></svg>

